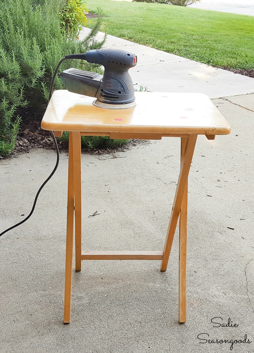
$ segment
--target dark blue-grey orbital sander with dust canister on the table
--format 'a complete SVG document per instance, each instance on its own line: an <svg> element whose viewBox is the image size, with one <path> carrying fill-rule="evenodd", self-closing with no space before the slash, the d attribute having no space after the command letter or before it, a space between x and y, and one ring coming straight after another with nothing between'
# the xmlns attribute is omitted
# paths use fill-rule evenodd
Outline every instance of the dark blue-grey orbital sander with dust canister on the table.
<svg viewBox="0 0 254 353"><path fill-rule="evenodd" d="M84 54L66 55L65 59L82 59L104 66L104 74L69 68L60 73L66 89L73 93L96 97L95 106L108 109L134 107L134 86L129 68L137 64L135 54L121 49L94 49Z"/></svg>

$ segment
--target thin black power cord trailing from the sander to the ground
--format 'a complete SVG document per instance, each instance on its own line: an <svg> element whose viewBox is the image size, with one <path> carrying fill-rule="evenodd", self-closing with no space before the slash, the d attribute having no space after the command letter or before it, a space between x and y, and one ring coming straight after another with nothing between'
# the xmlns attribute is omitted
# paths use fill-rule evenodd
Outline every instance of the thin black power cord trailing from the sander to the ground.
<svg viewBox="0 0 254 353"><path fill-rule="evenodd" d="M75 55L75 54L74 54ZM57 71L60 67L60 65L62 64L62 62L66 59L76 59L75 56L72 56L72 55L66 55L67 57L64 57L63 59L61 59L58 64L57 64L57 67L53 73L53 76L52 76L52 80L51 80L51 84L50 84L50 89L49 89L49 100L47 101L47 104L49 104L49 101L50 101L50 98L52 96L52 91L53 91L53 84L54 84L54 81L55 81L55 77L56 77L56 74L57 74ZM83 54L84 55L84 54ZM56 153L57 153L57 161L56 161L56 165L55 165L55 168L53 169L52 173L50 174L50 176L44 181L44 183L42 184L42 186L40 187L40 189L37 191L37 194L36 194L36 197L34 199L34 202L33 202L33 207L32 207L32 210L30 212L30 214L24 219L22 220L21 222L15 224L14 226L6 229L4 232L0 233L0 237L1 235L5 234L6 232L10 231L11 229L13 228L16 228L18 226L20 226L22 223L26 222L33 214L33 211L35 209L35 206L36 206L36 202L37 202L37 199L38 199L38 196L39 196L39 193L42 191L43 187L47 184L47 182L53 177L53 174L55 174L55 171L57 170L57 167L58 167L58 164L59 164L59 149L58 149L58 145L57 145L57 142L56 142L56 138L55 138L55 135L54 135L54 132L51 131L51 135L52 135L52 138L53 138L53 142L56 146Z"/></svg>

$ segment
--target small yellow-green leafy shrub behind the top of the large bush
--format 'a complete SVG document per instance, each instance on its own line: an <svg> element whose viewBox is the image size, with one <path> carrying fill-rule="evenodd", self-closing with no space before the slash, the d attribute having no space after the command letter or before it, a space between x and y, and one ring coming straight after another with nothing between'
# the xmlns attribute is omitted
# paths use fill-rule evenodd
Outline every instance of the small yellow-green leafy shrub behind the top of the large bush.
<svg viewBox="0 0 254 353"><path fill-rule="evenodd" d="M69 0L60 12L63 30L78 35L82 26L87 25L87 12L88 9L81 0Z"/></svg>

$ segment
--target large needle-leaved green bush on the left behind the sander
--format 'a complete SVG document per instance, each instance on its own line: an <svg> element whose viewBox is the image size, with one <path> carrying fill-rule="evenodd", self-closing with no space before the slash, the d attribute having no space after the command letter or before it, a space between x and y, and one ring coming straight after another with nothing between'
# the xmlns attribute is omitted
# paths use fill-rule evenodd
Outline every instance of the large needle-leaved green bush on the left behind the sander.
<svg viewBox="0 0 254 353"><path fill-rule="evenodd" d="M95 40L101 26L101 14L90 34L77 40L77 34L62 31L59 12L64 3L55 0L0 1L0 155L8 155L18 133L20 118L15 111L27 106L46 103L52 74L66 54L84 53L101 48ZM84 68L84 61L66 61L61 68ZM93 71L101 72L99 65ZM56 77L56 89L63 89Z"/></svg>

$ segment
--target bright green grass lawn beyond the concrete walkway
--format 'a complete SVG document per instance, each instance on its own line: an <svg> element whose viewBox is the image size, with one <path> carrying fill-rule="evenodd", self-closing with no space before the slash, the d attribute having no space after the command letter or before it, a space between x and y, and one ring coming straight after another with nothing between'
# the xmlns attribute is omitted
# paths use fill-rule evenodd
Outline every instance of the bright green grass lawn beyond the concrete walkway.
<svg viewBox="0 0 254 353"><path fill-rule="evenodd" d="M254 17L196 8L87 0L100 6L103 31L215 66L254 69Z"/></svg>

